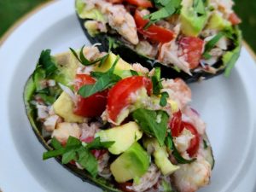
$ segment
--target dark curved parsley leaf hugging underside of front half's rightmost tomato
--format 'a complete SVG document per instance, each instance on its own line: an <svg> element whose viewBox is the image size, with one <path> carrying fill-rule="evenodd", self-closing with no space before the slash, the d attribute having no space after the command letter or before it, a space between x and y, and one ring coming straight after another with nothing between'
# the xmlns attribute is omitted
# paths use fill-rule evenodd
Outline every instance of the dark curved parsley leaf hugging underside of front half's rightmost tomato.
<svg viewBox="0 0 256 192"><path fill-rule="evenodd" d="M172 154L177 160L177 163L179 164L188 164L194 162L196 159L191 159L191 160L186 160L183 158L181 154L178 153L177 148L175 147L175 144L173 143L173 138L171 132L168 132L167 137L166 137L166 146L172 150ZM171 144L172 143L172 144Z"/></svg>

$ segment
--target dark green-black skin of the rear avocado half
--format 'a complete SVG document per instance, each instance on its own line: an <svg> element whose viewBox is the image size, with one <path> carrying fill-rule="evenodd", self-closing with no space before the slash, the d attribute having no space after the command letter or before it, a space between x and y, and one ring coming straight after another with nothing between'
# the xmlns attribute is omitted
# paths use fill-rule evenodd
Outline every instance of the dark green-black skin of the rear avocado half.
<svg viewBox="0 0 256 192"><path fill-rule="evenodd" d="M86 28L84 27L84 19L79 18L79 15L77 15L79 19L80 26L82 27L85 36L89 39L91 44L100 43L102 46L99 47L101 51L108 51L109 48L109 38L112 38L114 40L114 44L116 46L113 46L111 50L114 54L120 55L125 61L129 63L135 63L138 62L143 65L143 67L147 67L149 70L153 67L160 67L161 68L161 76L166 79L175 79L175 78L181 78L186 83L194 83L198 82L201 79L211 79L219 74L224 73L224 68L219 70L217 73L207 73L204 71L200 72L191 72L192 76L190 76L187 73L184 72L177 72L177 70L173 69L172 67L167 67L164 64L155 61L153 59L150 59L144 55L138 54L135 50L129 48L125 44L123 44L119 39L114 37L113 35L110 35L108 33L99 33L95 37L91 37L90 34L87 32ZM218 68L223 65L222 61L218 61L216 64L214 64L212 67Z"/></svg>

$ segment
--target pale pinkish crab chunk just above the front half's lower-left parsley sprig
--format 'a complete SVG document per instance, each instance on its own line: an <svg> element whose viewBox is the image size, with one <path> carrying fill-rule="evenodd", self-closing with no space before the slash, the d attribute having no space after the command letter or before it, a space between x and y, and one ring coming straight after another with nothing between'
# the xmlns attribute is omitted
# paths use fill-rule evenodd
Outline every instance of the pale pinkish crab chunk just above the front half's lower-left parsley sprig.
<svg viewBox="0 0 256 192"><path fill-rule="evenodd" d="M81 135L81 129L76 123L59 123L56 129L53 131L51 137L55 137L60 143L67 143L68 137L79 138Z"/></svg>

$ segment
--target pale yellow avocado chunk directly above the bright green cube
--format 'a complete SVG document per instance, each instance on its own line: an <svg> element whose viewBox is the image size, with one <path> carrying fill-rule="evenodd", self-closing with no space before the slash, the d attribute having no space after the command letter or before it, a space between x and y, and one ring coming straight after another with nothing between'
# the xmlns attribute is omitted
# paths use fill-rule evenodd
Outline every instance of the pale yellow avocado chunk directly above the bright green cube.
<svg viewBox="0 0 256 192"><path fill-rule="evenodd" d="M114 142L113 145L108 148L111 154L121 154L127 148L141 137L143 132L140 131L136 122L131 121L125 125L113 127L108 130L99 131L96 133L96 137L100 137L102 142Z"/></svg>

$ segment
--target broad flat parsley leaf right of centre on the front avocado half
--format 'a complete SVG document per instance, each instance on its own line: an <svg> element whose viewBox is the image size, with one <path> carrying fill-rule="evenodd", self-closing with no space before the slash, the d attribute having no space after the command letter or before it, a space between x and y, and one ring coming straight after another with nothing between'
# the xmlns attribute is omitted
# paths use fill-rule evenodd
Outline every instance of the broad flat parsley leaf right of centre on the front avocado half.
<svg viewBox="0 0 256 192"><path fill-rule="evenodd" d="M165 111L138 108L132 113L141 129L149 136L156 137L160 146L164 145L169 115Z"/></svg>

